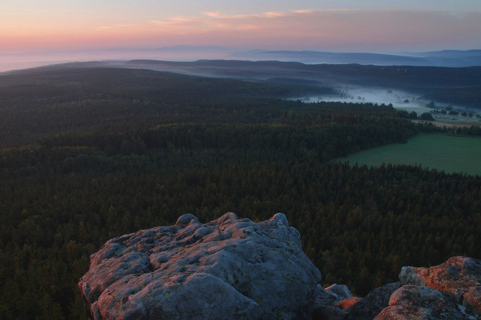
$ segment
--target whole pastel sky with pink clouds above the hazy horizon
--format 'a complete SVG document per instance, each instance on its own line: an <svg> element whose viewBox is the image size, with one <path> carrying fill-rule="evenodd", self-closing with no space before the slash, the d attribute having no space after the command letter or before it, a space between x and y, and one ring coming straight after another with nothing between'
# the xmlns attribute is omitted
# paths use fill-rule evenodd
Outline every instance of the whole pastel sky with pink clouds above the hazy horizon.
<svg viewBox="0 0 481 320"><path fill-rule="evenodd" d="M0 49L481 49L481 0L2 0Z"/></svg>

